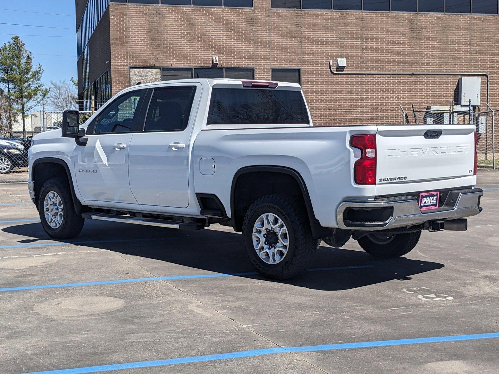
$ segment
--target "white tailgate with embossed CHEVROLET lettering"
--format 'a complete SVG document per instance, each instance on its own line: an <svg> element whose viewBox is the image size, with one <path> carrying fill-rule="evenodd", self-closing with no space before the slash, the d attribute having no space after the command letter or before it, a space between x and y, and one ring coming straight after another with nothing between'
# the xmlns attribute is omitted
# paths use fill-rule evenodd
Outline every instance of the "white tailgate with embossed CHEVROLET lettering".
<svg viewBox="0 0 499 374"><path fill-rule="evenodd" d="M469 178L456 187L466 185L468 180L471 185L475 163L474 131L474 125L378 126L377 187L420 183L421 188L411 188L426 190L440 186L425 186L425 183L463 177ZM379 193L382 190L377 188L377 194L382 194Z"/></svg>

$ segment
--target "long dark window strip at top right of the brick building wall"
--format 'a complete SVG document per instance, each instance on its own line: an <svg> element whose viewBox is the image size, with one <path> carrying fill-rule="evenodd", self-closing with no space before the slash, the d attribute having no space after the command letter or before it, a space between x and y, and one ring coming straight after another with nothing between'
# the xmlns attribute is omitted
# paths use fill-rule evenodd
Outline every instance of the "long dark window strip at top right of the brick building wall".
<svg viewBox="0 0 499 374"><path fill-rule="evenodd" d="M304 10L498 14L498 0L270 0L270 7Z"/></svg>

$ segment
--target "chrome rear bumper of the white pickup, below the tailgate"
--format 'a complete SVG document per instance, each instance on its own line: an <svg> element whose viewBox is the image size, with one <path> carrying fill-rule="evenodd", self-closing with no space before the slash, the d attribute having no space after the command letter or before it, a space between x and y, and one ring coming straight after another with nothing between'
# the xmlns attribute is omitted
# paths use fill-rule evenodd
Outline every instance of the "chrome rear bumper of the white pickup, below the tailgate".
<svg viewBox="0 0 499 374"><path fill-rule="evenodd" d="M395 196L369 201L344 201L337 210L338 227L347 230L386 230L427 221L465 218L482 211L480 188L457 189L448 193L443 206L422 213L414 196ZM356 219L348 219L355 216ZM378 217L379 219L373 219Z"/></svg>

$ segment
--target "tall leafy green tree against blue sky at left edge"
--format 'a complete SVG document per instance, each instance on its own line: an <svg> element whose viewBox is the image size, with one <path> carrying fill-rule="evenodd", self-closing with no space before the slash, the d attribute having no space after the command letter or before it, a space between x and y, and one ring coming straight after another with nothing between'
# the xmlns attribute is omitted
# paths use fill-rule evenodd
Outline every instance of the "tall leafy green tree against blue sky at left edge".
<svg viewBox="0 0 499 374"><path fill-rule="evenodd" d="M33 54L16 35L0 48L0 83L22 116L22 136L26 137L26 113L39 105L48 89L41 83L43 69L33 66Z"/></svg>

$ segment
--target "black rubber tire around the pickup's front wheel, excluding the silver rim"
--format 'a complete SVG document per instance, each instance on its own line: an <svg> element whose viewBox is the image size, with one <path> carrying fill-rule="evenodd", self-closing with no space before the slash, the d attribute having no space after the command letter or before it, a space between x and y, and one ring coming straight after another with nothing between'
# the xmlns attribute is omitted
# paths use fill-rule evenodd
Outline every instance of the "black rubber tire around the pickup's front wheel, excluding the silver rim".
<svg viewBox="0 0 499 374"><path fill-rule="evenodd" d="M54 191L59 195L63 207L62 222L60 223L60 226L56 228L53 228L48 224L43 206L46 195L51 191ZM51 178L44 183L38 196L38 211L43 229L48 236L54 239L74 238L81 232L83 223L85 222L85 219L81 217L81 214L76 213L71 190L67 185L67 181L63 178Z"/></svg>

